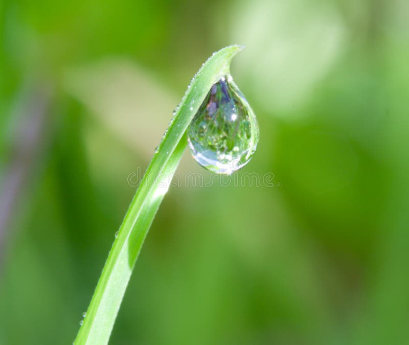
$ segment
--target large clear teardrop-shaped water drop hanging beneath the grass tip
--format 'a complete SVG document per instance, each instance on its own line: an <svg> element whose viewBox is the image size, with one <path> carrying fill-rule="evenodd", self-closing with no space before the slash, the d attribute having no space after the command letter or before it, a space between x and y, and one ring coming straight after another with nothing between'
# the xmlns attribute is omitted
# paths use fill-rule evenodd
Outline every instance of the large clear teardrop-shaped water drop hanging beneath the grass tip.
<svg viewBox="0 0 409 345"><path fill-rule="evenodd" d="M189 149L202 167L232 174L252 158L259 140L256 116L231 76L213 84L188 128Z"/></svg>

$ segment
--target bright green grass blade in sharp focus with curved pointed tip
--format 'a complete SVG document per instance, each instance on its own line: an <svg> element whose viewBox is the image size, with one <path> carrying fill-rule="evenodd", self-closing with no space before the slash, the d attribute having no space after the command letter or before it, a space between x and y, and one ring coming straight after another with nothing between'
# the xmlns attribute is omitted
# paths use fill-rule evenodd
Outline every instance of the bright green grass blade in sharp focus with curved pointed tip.
<svg viewBox="0 0 409 345"><path fill-rule="evenodd" d="M186 129L211 86L230 74L230 61L242 49L231 45L213 53L192 79L130 203L75 345L108 343L133 266L186 148Z"/></svg>

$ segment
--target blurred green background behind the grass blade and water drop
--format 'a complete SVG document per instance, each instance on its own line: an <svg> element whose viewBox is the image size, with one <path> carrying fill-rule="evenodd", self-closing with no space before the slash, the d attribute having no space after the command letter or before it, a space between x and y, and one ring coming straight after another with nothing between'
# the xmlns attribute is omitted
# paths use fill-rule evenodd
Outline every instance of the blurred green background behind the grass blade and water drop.
<svg viewBox="0 0 409 345"><path fill-rule="evenodd" d="M260 124L238 174L274 187L171 188L110 343L409 344L406 0L2 0L0 24L0 344L72 343L128 175L233 43Z"/></svg>

